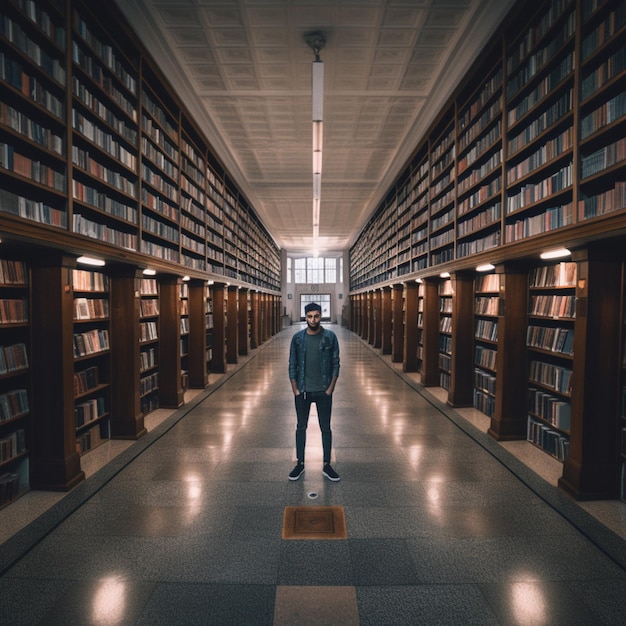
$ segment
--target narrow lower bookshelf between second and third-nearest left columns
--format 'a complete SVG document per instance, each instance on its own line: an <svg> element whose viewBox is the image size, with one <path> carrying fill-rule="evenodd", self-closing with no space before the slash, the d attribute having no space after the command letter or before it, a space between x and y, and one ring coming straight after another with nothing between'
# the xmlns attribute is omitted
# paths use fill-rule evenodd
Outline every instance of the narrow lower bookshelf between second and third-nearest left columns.
<svg viewBox="0 0 626 626"><path fill-rule="evenodd" d="M159 408L159 290L156 278L140 279L139 395L143 415Z"/></svg>

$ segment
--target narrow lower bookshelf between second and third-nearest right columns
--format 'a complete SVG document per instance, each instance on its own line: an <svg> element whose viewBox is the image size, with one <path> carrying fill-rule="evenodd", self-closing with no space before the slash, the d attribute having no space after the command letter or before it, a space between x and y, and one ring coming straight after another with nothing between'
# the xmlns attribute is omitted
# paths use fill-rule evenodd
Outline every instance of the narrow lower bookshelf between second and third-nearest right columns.
<svg viewBox="0 0 626 626"><path fill-rule="evenodd" d="M491 417L496 398L500 277L478 274L474 298L474 407Z"/></svg>

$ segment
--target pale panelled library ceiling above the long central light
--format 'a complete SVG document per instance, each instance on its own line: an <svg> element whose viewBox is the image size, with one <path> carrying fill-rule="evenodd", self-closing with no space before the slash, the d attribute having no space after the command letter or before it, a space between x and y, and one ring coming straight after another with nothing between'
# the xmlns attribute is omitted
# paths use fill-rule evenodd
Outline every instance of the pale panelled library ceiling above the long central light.
<svg viewBox="0 0 626 626"><path fill-rule="evenodd" d="M310 253L311 62L327 40L319 252L348 248L513 0L116 0L288 253Z"/></svg>

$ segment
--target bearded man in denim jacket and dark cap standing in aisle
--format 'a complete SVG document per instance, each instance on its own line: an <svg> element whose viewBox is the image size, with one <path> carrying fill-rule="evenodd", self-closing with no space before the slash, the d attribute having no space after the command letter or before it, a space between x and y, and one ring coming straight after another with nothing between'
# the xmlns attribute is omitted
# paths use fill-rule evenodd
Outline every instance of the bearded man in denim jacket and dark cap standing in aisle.
<svg viewBox="0 0 626 626"><path fill-rule="evenodd" d="M289 379L296 403L296 466L289 480L298 480L304 474L304 448L306 429L309 423L311 404L317 407L324 467L322 473L328 480L340 480L330 464L332 431L330 416L333 406L333 391L339 376L339 342L332 330L321 325L322 309L310 302L304 308L306 328L298 331L291 339L289 349Z"/></svg>

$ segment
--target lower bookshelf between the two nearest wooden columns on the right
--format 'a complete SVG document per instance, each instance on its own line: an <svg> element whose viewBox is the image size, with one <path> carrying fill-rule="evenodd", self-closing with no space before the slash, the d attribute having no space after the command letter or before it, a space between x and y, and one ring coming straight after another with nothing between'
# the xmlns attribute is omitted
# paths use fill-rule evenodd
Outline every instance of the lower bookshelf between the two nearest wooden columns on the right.
<svg viewBox="0 0 626 626"><path fill-rule="evenodd" d="M575 263L531 270L527 438L560 461L571 430L575 303Z"/></svg>

